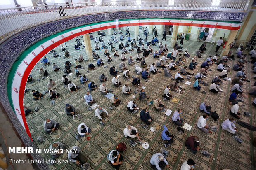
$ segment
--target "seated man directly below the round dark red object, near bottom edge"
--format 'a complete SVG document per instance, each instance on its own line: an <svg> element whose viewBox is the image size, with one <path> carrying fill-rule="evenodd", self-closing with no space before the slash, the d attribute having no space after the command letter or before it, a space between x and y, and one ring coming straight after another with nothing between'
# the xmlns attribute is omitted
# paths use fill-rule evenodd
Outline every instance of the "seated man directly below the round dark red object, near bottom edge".
<svg viewBox="0 0 256 170"><path fill-rule="evenodd" d="M111 150L109 154L107 154L107 160L114 169L119 170L119 167L123 161L123 156L119 154L118 151Z"/></svg>

